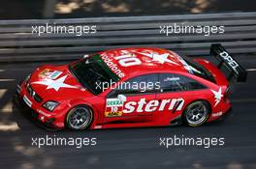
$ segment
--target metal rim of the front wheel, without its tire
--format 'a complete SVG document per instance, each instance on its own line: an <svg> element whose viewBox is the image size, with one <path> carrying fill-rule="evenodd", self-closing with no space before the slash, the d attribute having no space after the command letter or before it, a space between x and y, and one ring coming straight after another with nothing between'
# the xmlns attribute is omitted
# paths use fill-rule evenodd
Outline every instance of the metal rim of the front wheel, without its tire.
<svg viewBox="0 0 256 169"><path fill-rule="evenodd" d="M80 129L87 127L91 121L91 113L87 108L77 107L69 117L69 125L72 128Z"/></svg>

